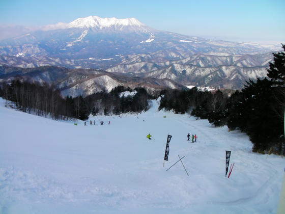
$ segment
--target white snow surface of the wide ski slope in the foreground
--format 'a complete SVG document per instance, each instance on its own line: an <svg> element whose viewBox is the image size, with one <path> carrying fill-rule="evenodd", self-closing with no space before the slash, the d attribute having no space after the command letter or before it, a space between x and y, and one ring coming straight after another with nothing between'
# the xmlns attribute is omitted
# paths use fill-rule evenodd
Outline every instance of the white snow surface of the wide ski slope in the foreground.
<svg viewBox="0 0 285 214"><path fill-rule="evenodd" d="M285 158L252 153L239 131L158 112L155 100L146 113L96 116L86 126L4 104L1 99L0 213L277 211ZM196 143L187 141L188 132ZM173 137L163 168L167 133ZM225 150L235 163L230 178ZM178 155L189 176L181 163L166 171Z"/></svg>

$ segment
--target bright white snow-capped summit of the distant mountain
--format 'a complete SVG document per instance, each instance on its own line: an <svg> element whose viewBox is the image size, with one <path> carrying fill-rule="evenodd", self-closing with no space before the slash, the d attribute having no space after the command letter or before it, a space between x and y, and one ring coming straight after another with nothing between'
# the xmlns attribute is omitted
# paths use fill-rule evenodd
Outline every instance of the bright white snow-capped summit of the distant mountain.
<svg viewBox="0 0 285 214"><path fill-rule="evenodd" d="M110 28L112 26L145 26L143 23L135 18L118 19L101 18L99 16L88 16L85 18L78 18L68 24L68 28Z"/></svg>

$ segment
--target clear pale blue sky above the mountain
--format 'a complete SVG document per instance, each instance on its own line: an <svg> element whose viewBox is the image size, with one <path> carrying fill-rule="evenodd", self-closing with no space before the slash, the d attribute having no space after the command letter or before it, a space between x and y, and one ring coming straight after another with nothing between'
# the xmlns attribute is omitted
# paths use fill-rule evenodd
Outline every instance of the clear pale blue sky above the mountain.
<svg viewBox="0 0 285 214"><path fill-rule="evenodd" d="M46 25L87 16L134 17L154 29L229 41L285 43L285 0L0 0L0 24Z"/></svg>

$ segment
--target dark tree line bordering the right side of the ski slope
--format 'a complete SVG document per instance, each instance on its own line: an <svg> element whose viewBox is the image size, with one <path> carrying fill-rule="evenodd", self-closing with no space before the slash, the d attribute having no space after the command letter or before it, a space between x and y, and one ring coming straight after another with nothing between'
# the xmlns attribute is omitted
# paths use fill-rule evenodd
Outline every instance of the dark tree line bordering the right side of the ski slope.
<svg viewBox="0 0 285 214"><path fill-rule="evenodd" d="M273 53L273 57L267 69L269 78L249 80L231 96L219 90L167 90L162 92L159 108L181 114L191 112L215 126L239 129L247 133L255 152L272 148L275 153L284 154L285 53Z"/></svg>

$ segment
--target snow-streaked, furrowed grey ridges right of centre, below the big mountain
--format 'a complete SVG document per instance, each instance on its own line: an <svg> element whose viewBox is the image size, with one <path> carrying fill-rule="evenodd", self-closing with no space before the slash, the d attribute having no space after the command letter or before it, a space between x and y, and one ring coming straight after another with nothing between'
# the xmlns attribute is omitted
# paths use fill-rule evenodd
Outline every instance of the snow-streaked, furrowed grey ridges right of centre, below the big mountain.
<svg viewBox="0 0 285 214"><path fill-rule="evenodd" d="M183 85L240 89L248 78L266 77L271 53L214 56L195 54L175 61L161 61L156 55L132 55L109 72L132 73L140 77L169 78ZM151 61L151 63L149 62Z"/></svg>

